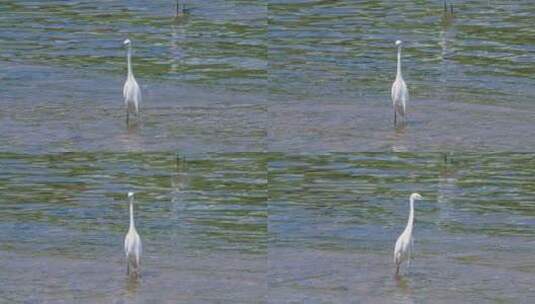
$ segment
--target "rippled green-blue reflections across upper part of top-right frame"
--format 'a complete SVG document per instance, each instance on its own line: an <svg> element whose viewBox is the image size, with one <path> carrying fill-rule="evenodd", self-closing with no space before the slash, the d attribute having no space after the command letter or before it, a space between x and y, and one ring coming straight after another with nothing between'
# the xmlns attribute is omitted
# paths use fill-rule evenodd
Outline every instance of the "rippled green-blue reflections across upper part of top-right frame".
<svg viewBox="0 0 535 304"><path fill-rule="evenodd" d="M413 98L443 99L446 87L456 102L528 103L534 95L526 38L533 5L471 1L456 4L451 17L442 4L272 1L271 88L296 99L345 97L359 105L363 96L387 97L385 84L395 75L393 42L401 39Z"/></svg>

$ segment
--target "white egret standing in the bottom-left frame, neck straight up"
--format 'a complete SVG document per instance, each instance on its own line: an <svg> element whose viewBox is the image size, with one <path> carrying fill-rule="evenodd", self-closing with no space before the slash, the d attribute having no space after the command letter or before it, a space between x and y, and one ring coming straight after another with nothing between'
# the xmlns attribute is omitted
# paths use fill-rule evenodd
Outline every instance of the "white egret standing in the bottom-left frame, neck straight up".
<svg viewBox="0 0 535 304"><path fill-rule="evenodd" d="M126 254L126 274L139 275L139 259L141 258L141 239L134 224L134 193L128 192L130 204L130 228L124 238L124 253Z"/></svg>

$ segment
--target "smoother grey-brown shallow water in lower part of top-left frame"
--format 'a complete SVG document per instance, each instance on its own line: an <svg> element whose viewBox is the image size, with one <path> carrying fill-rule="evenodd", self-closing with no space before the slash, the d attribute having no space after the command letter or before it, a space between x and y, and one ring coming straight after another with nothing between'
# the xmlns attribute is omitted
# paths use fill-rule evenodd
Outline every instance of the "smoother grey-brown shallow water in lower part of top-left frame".
<svg viewBox="0 0 535 304"><path fill-rule="evenodd" d="M122 79L65 68L5 68L2 151L265 150L267 112L257 96L142 83L141 117L127 128Z"/></svg>

